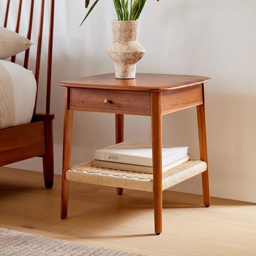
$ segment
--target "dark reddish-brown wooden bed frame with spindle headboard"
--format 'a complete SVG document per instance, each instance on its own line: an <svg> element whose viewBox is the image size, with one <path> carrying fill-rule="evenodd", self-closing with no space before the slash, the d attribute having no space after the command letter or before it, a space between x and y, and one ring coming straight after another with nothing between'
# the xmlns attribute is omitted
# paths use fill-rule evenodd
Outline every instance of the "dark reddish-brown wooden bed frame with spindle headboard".
<svg viewBox="0 0 256 256"><path fill-rule="evenodd" d="M36 101L39 82L40 59L42 34L44 23L44 5L45 1L41 0L39 32L37 41L36 54L36 100L34 114L31 123L18 125L0 130L0 166L15 163L21 160L40 156L43 158L44 184L50 189L53 186L53 127L52 121L54 114L50 114L50 88L52 78L52 46L53 46L53 21L54 21L54 0L50 0L50 26L49 26L49 47L48 47L48 66L47 66L47 95L45 113L36 112ZM7 26L10 0L7 0L4 27ZM18 2L18 12L16 19L15 32L19 32L21 20L22 0ZM30 1L30 14L28 18L27 38L31 38L32 23L34 12L34 0ZM29 49L25 52L24 67L28 67ZM11 61L15 62L16 56Z"/></svg>

